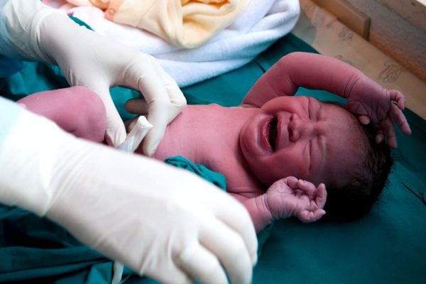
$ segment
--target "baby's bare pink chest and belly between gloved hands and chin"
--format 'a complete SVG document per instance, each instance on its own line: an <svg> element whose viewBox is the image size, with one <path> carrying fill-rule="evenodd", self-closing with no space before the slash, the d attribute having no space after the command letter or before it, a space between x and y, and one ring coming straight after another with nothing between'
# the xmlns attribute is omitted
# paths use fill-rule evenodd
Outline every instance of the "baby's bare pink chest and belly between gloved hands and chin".
<svg viewBox="0 0 426 284"><path fill-rule="evenodd" d="M239 133L256 108L189 105L168 126L153 158L182 155L226 176L228 187L257 185L239 147Z"/></svg>

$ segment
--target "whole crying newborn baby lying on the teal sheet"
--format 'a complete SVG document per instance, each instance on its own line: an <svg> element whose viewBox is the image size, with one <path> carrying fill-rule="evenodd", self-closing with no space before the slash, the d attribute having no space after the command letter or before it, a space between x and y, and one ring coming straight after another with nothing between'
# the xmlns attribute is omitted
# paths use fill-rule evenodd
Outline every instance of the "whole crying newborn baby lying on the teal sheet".
<svg viewBox="0 0 426 284"><path fill-rule="evenodd" d="M306 60L306 66L312 68L305 68L310 71L298 77L295 62L300 65ZM330 71L326 77L320 68L324 64ZM327 192L328 214L364 214L377 199L391 169L388 147L376 143L374 135L344 107L291 96L297 89L295 85L327 89L347 97L351 111L354 102L359 102L364 111L380 111L372 114L355 110L364 123L371 119L380 126L392 116L403 132L410 131L400 112L402 94L379 87L354 67L333 58L293 53L256 82L241 107L187 106L166 129L153 158L182 155L223 173L226 191L246 206L257 231L274 219L320 219L325 213ZM53 108L52 100L59 101ZM398 101L399 108L393 100ZM103 104L87 89L42 92L21 103L53 119L65 131L103 141ZM126 107L141 113L141 104L135 100ZM393 124L383 124L376 140L380 141L384 133L393 143L394 132L389 129ZM141 153L141 149L136 152Z"/></svg>

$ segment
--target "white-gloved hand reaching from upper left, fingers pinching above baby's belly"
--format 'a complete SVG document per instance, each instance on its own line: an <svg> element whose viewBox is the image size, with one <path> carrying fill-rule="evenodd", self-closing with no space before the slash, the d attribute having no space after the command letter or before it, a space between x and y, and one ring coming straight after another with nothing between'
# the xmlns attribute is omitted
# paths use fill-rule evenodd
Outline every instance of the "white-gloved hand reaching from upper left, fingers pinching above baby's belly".
<svg viewBox="0 0 426 284"><path fill-rule="evenodd" d="M78 26L40 1L9 0L1 21L0 26L6 26L0 28L6 49L21 58L58 64L70 85L86 86L102 98L107 110L106 138L113 146L124 141L126 131L110 87L130 87L145 97L148 121L154 126L144 140L146 155L155 152L167 124L186 106L178 84L151 55Z"/></svg>

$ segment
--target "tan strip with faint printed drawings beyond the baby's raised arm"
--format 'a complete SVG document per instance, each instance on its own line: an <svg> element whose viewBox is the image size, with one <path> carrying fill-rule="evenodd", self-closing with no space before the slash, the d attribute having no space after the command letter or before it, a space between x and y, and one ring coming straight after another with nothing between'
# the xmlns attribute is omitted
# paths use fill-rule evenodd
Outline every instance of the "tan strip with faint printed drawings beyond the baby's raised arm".
<svg viewBox="0 0 426 284"><path fill-rule="evenodd" d="M426 119L426 82L313 1L300 0L300 6L300 18L293 29L297 37L318 52L353 65L383 87L400 90L407 98L407 107Z"/></svg>

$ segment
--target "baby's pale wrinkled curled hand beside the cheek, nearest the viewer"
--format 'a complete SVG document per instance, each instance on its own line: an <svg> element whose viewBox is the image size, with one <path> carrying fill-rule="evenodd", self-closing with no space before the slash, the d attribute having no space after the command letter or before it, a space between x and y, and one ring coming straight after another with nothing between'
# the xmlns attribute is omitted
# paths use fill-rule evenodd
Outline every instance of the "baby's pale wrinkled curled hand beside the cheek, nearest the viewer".
<svg viewBox="0 0 426 284"><path fill-rule="evenodd" d="M295 216L302 222L315 222L324 216L327 200L325 185L288 177L274 182L266 192L266 203L273 219Z"/></svg>

